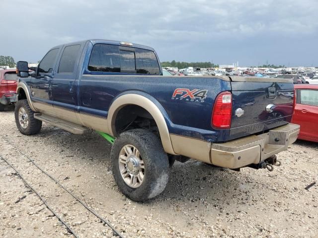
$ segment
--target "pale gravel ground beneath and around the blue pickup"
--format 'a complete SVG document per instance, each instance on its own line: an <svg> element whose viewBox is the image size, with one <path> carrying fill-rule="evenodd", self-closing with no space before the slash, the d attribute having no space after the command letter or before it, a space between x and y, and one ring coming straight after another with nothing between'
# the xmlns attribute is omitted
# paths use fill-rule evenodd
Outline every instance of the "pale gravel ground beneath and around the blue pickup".
<svg viewBox="0 0 318 238"><path fill-rule="evenodd" d="M81 238L115 236L17 149L126 238L318 237L318 184L305 189L318 182L318 143L297 141L279 154L283 165L273 172L176 162L165 191L136 203L118 191L109 170L111 146L97 133L73 135L43 123L39 134L24 136L12 110L0 113L0 128L0 155ZM72 237L52 215L0 160L0 236Z"/></svg>

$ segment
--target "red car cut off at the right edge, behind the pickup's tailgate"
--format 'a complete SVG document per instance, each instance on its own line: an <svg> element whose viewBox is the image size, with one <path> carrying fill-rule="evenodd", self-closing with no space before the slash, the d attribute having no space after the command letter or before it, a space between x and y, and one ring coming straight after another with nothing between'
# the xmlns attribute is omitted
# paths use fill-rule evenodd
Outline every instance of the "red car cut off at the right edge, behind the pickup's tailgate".
<svg viewBox="0 0 318 238"><path fill-rule="evenodd" d="M300 125L298 139L318 142L318 85L295 84L292 123Z"/></svg>

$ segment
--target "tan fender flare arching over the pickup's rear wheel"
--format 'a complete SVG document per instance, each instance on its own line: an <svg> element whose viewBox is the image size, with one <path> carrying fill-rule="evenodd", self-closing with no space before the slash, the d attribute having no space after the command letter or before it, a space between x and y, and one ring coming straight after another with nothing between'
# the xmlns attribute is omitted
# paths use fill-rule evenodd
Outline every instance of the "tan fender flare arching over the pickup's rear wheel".
<svg viewBox="0 0 318 238"><path fill-rule="evenodd" d="M164 119L163 113L165 113L159 102L150 95L142 92L130 92L119 95L112 102L107 117L108 130L113 136L117 135L115 128L115 121L118 112L127 105L136 105L145 109L155 120L160 134L161 143L166 153L175 155L169 135L167 123ZM159 109L161 107L161 110Z"/></svg>

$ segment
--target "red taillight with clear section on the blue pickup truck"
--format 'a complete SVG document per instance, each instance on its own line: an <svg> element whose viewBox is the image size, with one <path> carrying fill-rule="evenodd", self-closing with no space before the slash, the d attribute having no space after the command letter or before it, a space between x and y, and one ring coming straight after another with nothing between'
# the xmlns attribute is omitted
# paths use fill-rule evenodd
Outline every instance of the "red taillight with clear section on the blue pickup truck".
<svg viewBox="0 0 318 238"><path fill-rule="evenodd" d="M232 94L220 93L214 101L211 125L217 129L229 129L232 117Z"/></svg>

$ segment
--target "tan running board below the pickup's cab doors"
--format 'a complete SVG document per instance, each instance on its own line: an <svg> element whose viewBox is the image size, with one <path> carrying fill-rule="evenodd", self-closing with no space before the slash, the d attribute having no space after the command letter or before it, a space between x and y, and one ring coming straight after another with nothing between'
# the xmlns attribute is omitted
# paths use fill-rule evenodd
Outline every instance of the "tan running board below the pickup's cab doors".
<svg viewBox="0 0 318 238"><path fill-rule="evenodd" d="M42 120L44 122L47 122L51 125L55 125L61 129L67 130L73 134L77 134L77 135L81 135L81 134L86 134L86 133L90 133L92 130L81 126L79 124L75 124L63 119L58 119L52 116L48 116L45 114L41 114L41 113L35 113L34 114L34 118L38 119L38 120Z"/></svg>

